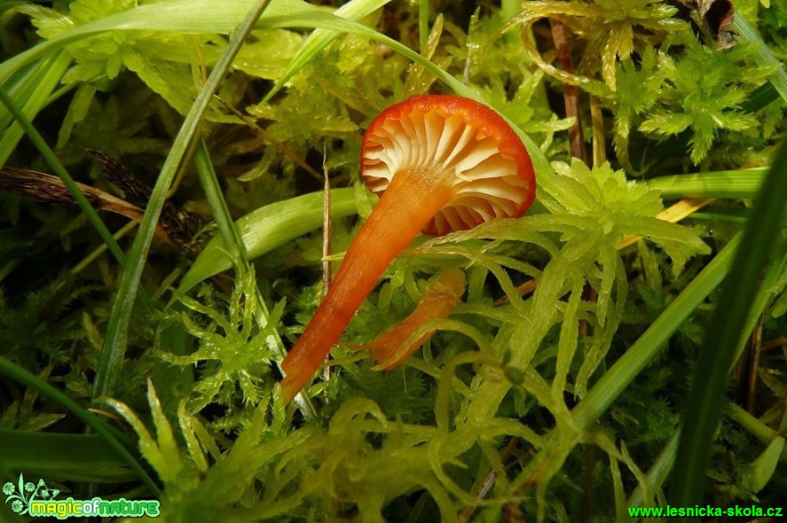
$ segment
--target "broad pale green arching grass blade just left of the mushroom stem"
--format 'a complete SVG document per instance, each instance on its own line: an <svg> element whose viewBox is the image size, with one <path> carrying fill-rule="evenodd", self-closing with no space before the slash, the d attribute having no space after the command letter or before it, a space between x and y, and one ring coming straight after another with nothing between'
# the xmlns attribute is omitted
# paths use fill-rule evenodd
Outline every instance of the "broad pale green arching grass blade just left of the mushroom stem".
<svg viewBox="0 0 787 523"><path fill-rule="evenodd" d="M323 198L322 192L312 192L278 201L260 207L235 222L249 260L269 253L276 247L321 227ZM358 204L354 189L331 191L331 214L334 218L357 213ZM178 291L185 293L202 280L230 269L231 252L232 249L224 245L222 235L211 239L181 280Z"/></svg>

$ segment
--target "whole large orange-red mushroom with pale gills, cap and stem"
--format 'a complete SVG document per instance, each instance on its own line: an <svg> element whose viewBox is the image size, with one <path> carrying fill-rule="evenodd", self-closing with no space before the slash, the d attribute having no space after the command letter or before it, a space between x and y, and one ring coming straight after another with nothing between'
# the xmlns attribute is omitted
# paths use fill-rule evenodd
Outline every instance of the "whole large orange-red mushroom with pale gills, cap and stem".
<svg viewBox="0 0 787 523"><path fill-rule="evenodd" d="M486 105L457 96L417 96L380 113L364 133L361 176L380 201L282 362L286 402L306 386L382 271L419 231L444 235L518 217L535 196L530 156L514 129Z"/></svg>

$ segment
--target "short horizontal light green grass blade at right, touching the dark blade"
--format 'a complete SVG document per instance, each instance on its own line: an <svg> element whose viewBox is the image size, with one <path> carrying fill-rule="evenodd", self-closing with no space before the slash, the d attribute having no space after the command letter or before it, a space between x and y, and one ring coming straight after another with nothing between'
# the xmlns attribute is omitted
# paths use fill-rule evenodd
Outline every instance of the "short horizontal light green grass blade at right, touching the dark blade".
<svg viewBox="0 0 787 523"><path fill-rule="evenodd" d="M767 168L712 171L696 175L659 176L648 180L664 199L753 198L765 179Z"/></svg>

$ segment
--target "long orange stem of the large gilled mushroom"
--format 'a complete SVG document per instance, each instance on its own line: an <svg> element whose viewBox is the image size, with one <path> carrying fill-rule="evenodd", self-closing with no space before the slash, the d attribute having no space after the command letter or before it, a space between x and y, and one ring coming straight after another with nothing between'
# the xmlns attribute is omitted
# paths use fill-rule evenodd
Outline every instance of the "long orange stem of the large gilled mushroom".
<svg viewBox="0 0 787 523"><path fill-rule="evenodd" d="M285 402L290 402L325 361L377 278L453 194L444 173L397 173L353 239L327 296L282 362Z"/></svg>

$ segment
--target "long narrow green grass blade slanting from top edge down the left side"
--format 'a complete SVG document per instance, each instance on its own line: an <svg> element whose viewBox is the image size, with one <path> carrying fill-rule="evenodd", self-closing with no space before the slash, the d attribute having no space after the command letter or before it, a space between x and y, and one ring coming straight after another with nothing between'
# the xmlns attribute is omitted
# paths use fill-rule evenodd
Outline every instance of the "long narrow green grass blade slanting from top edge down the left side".
<svg viewBox="0 0 787 523"><path fill-rule="evenodd" d="M169 4L169 3L166 3ZM161 174L153 186L153 191L139 224L137 237L131 246L129 263L123 272L121 285L115 296L109 321L106 325L106 335L104 346L98 360L96 370L96 381L93 385L93 400L99 396L111 396L114 392L114 383L118 373L122 368L123 355L126 351L127 334L129 330L131 312L134 307L134 297L139 288L142 278L142 269L145 267L148 250L155 233L156 222L161 215L161 207L167 198L169 186L175 179L177 168L185 156L189 144L200 126L202 115L208 108L213 93L216 92L219 83L224 79L224 74L232 64L232 59L240 50L241 45L246 41L246 37L254 27L256 20L270 4L270 0L257 0L254 7L248 12L238 30L232 35L226 51L219 59L218 63L211 71L208 82L194 100L191 110L185 117L183 126L177 133L172 149L169 151L167 160L161 168ZM153 4L159 5L159 4ZM221 11L221 10L219 10Z"/></svg>

